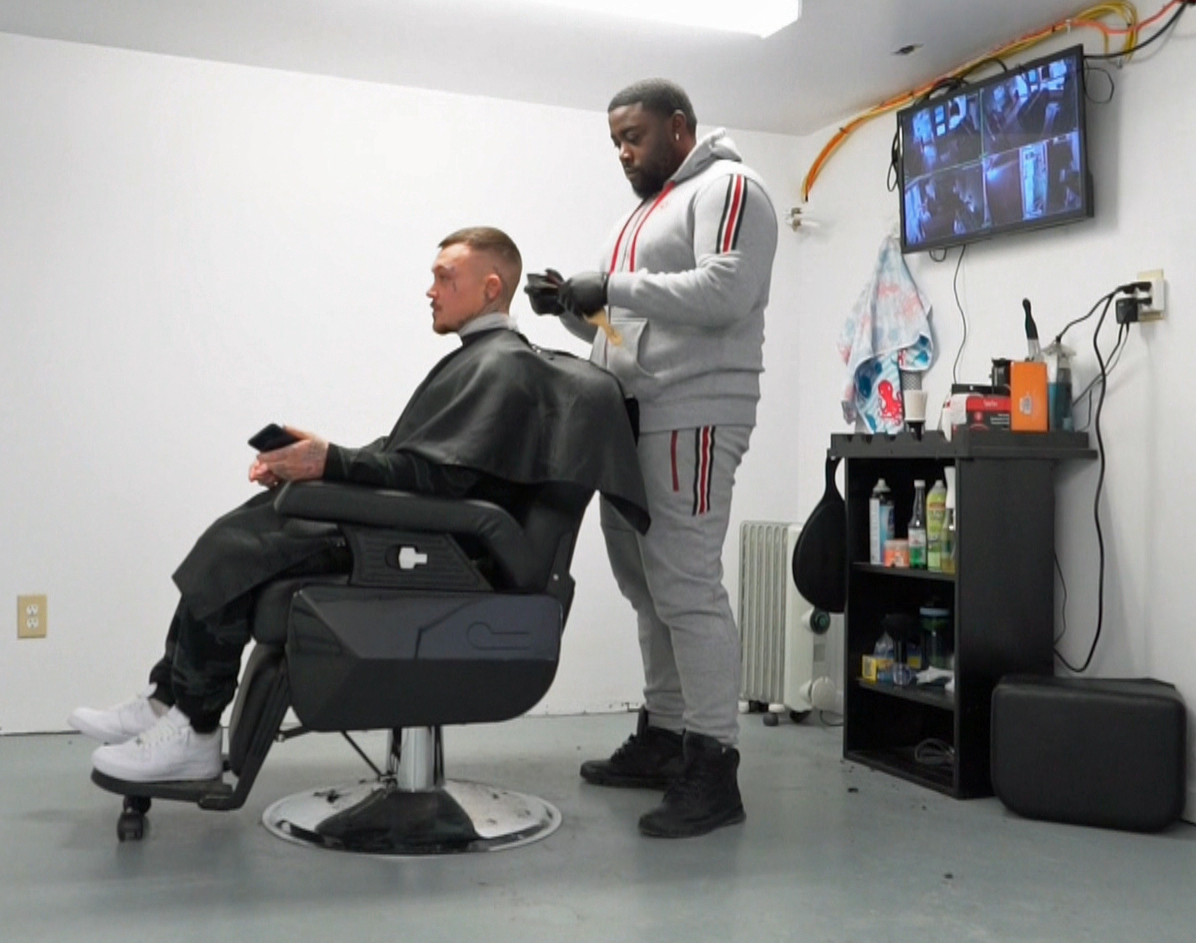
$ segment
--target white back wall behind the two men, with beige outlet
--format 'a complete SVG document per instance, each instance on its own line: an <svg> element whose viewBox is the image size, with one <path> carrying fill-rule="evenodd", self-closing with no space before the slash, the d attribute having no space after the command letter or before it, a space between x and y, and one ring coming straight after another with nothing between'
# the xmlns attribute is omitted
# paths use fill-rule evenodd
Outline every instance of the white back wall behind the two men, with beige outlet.
<svg viewBox="0 0 1196 943"><path fill-rule="evenodd" d="M484 68L484 63L480 65ZM0 731L65 726L144 683L170 574L252 493L268 420L360 444L456 341L423 291L435 243L507 230L529 270L591 268L633 196L605 115L0 35ZM779 208L798 142L736 134ZM744 517L795 507L798 241L782 230ZM541 343L578 351L550 318ZM639 699L630 609L597 513L541 710Z"/></svg>

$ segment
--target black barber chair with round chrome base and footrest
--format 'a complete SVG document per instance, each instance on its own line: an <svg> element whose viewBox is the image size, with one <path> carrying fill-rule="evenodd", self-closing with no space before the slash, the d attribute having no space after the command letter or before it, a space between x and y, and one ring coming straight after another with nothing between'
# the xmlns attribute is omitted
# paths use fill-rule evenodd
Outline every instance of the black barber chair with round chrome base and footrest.
<svg viewBox="0 0 1196 943"><path fill-rule="evenodd" d="M374 854L513 847L551 834L560 813L532 796L445 779L441 728L507 720L556 674L573 600L569 562L592 492L551 483L514 515L329 482L292 483L280 513L341 527L347 574L280 579L260 594L220 779L128 783L122 841L140 839L151 799L240 808L276 740L389 730L385 768L270 805L263 822L297 842ZM281 731L294 708L300 726ZM353 741L349 741L353 743Z"/></svg>

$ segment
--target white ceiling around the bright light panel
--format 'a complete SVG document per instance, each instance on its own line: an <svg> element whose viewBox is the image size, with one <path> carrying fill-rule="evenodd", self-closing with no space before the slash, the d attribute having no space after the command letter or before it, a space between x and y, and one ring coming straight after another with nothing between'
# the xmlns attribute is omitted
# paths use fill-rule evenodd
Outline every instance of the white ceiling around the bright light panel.
<svg viewBox="0 0 1196 943"><path fill-rule="evenodd" d="M694 0L694 2L736 0ZM805 0L767 39L536 0L0 0L0 31L587 110L648 75L703 124L808 134L1082 0ZM913 56L892 55L923 43Z"/></svg>

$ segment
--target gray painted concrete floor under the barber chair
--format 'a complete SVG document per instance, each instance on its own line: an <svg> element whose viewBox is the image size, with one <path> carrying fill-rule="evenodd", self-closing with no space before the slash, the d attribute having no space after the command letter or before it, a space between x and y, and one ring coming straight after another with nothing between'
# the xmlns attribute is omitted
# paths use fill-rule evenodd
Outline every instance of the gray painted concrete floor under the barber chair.
<svg viewBox="0 0 1196 943"><path fill-rule="evenodd" d="M748 822L641 838L654 793L578 763L634 717L445 734L448 774L536 793L565 822L500 853L355 858L273 838L262 810L355 779L338 737L276 746L246 807L158 802L141 842L87 779L78 736L0 738L0 941L1190 941L1196 828L1136 835L1018 819L841 759L838 731L743 718ZM379 735L364 740L380 759Z"/></svg>

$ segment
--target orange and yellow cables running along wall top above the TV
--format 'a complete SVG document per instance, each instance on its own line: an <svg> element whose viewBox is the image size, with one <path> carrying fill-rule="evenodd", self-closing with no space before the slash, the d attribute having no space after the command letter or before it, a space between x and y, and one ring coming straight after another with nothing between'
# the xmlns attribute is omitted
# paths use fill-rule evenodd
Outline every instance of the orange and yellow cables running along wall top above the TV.
<svg viewBox="0 0 1196 943"><path fill-rule="evenodd" d="M974 68L976 68L980 63L984 62L988 59L1006 59L1020 55L1027 49L1032 49L1039 43L1045 42L1050 37L1056 36L1060 32L1069 32L1073 29L1099 30L1104 36L1105 53L1110 51L1109 42L1113 37L1123 38L1124 42L1121 47L1122 49L1131 49L1134 45L1137 44L1137 35L1142 28L1149 26L1152 23L1157 22L1160 17L1163 17L1167 11L1178 6L1180 2L1183 2L1183 0L1168 0L1168 2L1158 13L1155 13L1153 17L1146 19L1142 23L1139 23L1137 19L1137 8L1134 6L1134 4L1128 2L1128 0L1110 0L1110 2L1096 4L1094 6L1085 7L1084 10L1078 11L1073 17L1062 19L1058 23L1052 23L1050 26L1044 26L1041 30L1029 32L1019 39L1014 39L1013 42L1007 43L1006 45L1002 45L997 49L993 49L991 51L986 53L984 55L977 56L976 59L965 62L963 66L954 69L953 72L948 72L945 75L940 75L934 81L928 81L925 85L914 89L913 91L904 92L903 95L899 95L896 98L890 98L886 102L881 102L878 105L873 105L867 111L856 115L854 118L848 121L843 127L841 127L835 133L835 136L832 136L826 142L826 146L823 147L822 151L819 151L818 157L814 158L813 164L810 165L810 170L806 171L805 180L803 180L801 182L803 202L807 202L810 200L810 190L813 189L814 181L818 180L818 175L822 174L823 168L826 166L826 162L830 160L831 156L842 146L843 141L850 138L852 134L854 134L858 128L860 128L862 124L866 124L867 122L872 121L875 117L880 117L881 115L887 115L914 102L920 96L925 95L930 89L933 89L936 83L957 77L968 75L971 73ZM1102 22L1109 18L1116 18L1121 23L1124 23L1125 24L1124 28L1110 26L1106 23Z"/></svg>

